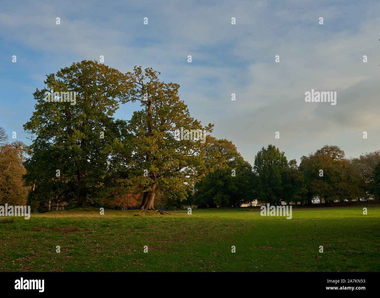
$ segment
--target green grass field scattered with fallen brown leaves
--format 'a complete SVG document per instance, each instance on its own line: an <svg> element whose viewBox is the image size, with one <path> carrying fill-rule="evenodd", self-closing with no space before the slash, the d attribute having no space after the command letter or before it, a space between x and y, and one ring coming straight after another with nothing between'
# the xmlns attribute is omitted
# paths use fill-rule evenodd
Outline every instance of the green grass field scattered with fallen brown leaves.
<svg viewBox="0 0 380 298"><path fill-rule="evenodd" d="M0 224L0 271L380 271L378 202L293 208L291 220L258 208L170 213L88 207L17 217Z"/></svg>

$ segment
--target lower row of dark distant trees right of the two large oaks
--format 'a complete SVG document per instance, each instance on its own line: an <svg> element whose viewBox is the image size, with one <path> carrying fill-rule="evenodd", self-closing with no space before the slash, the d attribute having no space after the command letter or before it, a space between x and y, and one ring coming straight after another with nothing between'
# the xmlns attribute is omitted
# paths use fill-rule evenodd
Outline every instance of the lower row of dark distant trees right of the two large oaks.
<svg viewBox="0 0 380 298"><path fill-rule="evenodd" d="M325 145L296 160L287 160L274 145L262 148L253 167L236 155L227 169L217 169L195 184L198 207L259 203L332 206L334 201L380 199L380 150L345 158L338 146ZM236 177L231 177L231 171Z"/></svg>

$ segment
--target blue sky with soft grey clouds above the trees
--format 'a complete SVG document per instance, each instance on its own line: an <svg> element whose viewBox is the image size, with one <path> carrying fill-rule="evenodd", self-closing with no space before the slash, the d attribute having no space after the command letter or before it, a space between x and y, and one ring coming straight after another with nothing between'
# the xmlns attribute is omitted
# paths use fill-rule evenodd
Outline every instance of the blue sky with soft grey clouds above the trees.
<svg viewBox="0 0 380 298"><path fill-rule="evenodd" d="M29 143L22 125L45 75L103 55L180 84L192 116L251 164L269 143L298 163L326 144L359 156L380 149L379 15L377 0L3 2L0 126ZM311 89L336 91L337 104L305 102ZM120 105L116 117L138 108Z"/></svg>

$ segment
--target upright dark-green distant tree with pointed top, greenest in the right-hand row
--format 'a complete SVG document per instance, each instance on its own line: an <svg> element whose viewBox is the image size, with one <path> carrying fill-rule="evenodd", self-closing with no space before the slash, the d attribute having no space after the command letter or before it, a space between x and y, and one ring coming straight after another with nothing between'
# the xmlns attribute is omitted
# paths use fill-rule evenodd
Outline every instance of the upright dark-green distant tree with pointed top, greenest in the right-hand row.
<svg viewBox="0 0 380 298"><path fill-rule="evenodd" d="M280 202L283 199L283 171L288 166L284 152L270 144L255 156L253 169L258 176L257 192L261 201Z"/></svg>

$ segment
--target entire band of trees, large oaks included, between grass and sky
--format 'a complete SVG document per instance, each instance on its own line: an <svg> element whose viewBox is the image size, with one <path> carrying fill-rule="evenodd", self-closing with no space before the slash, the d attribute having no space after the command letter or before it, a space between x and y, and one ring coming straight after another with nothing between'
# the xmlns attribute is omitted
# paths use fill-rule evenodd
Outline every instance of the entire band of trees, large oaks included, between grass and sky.
<svg viewBox="0 0 380 298"><path fill-rule="evenodd" d="M9 144L0 130L0 203L24 200L43 212L55 204L154 209L162 202L216 207L254 199L301 205L316 198L328 204L379 199L380 151L346 159L339 147L326 145L298 166L268 145L251 166L231 141L210 134L213 124L190 115L178 84L159 75L86 60L46 75L24 124L30 145ZM76 102L62 96L68 92ZM130 120L116 119L119 105L129 102L141 108ZM174 132L181 128L206 132L206 142L178 139Z"/></svg>

